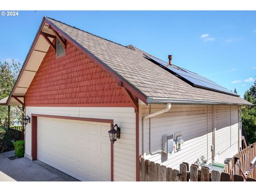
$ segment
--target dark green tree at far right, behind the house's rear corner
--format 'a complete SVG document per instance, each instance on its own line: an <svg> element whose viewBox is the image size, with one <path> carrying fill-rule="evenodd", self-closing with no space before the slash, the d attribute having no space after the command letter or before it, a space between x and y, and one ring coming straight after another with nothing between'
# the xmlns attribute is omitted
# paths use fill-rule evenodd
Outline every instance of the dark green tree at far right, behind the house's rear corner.
<svg viewBox="0 0 256 192"><path fill-rule="evenodd" d="M244 99L256 105L256 81L244 93ZM248 142L256 142L256 106L242 108L242 123Z"/></svg>

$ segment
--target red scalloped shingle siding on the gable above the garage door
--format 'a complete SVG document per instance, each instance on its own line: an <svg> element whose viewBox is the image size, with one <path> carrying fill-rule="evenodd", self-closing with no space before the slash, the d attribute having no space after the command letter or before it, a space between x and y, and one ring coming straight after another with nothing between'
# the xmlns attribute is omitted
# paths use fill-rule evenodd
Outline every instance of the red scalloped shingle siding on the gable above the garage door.
<svg viewBox="0 0 256 192"><path fill-rule="evenodd" d="M67 42L66 56L52 47L26 92L26 106L132 106L106 71Z"/></svg>

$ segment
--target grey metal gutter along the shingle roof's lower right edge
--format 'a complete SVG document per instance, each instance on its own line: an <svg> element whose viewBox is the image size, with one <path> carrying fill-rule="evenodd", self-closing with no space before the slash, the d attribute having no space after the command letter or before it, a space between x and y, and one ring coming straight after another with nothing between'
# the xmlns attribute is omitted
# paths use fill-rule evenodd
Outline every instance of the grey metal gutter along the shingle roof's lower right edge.
<svg viewBox="0 0 256 192"><path fill-rule="evenodd" d="M193 100L193 99L175 99L175 98L156 98L148 97L147 103L149 104L163 104L163 103L180 103L180 104L201 104L201 105L241 105L241 106L254 106L252 103L232 103L232 102L218 102L207 100Z"/></svg>

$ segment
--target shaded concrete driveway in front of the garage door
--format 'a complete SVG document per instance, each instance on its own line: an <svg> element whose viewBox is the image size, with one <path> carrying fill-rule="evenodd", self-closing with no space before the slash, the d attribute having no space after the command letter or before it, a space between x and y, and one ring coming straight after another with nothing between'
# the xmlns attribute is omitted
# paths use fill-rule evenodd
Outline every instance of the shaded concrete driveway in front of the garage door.
<svg viewBox="0 0 256 192"><path fill-rule="evenodd" d="M78 181L40 161L10 160L12 156L14 151L0 154L0 181Z"/></svg>

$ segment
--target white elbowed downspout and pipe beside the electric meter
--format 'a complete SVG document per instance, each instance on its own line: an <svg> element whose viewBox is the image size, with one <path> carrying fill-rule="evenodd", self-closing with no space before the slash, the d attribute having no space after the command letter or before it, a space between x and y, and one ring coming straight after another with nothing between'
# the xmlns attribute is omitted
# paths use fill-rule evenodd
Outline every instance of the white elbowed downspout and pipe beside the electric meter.
<svg viewBox="0 0 256 192"><path fill-rule="evenodd" d="M150 106L150 108L151 108L151 106ZM157 116L157 115L161 115L161 114L169 111L170 109L171 109L171 103L167 103L165 109L159 110L159 111L157 111L153 114L149 114L149 115L146 115L146 116L142 117L142 130L141 130L141 132L142 132L142 147L141 147L142 155L144 155L144 124L145 124L145 120L148 119L148 118ZM150 124L149 124L149 153L150 153L150 155L154 155L154 154L162 152L162 150L156 151L154 153L151 152L151 145L150 145L151 144L150 143L151 139L150 139L150 137L151 137L151 130L150 130Z"/></svg>

